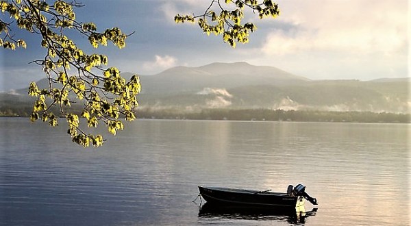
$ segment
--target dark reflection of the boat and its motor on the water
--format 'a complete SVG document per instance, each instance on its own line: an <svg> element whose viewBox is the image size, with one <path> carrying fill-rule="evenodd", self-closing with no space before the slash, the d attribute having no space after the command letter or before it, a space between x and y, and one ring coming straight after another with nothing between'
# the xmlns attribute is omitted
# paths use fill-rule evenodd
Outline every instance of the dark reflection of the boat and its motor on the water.
<svg viewBox="0 0 411 226"><path fill-rule="evenodd" d="M240 219L255 221L286 221L290 224L305 223L308 216L315 216L317 208L306 211L303 205L297 208L264 208L238 205L216 205L205 203L200 206L199 217Z"/></svg>

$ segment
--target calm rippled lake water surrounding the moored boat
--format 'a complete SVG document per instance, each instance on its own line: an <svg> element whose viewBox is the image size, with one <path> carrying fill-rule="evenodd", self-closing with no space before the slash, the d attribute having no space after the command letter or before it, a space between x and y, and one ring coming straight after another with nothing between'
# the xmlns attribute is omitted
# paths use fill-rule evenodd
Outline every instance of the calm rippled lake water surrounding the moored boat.
<svg viewBox="0 0 411 226"><path fill-rule="evenodd" d="M83 149L64 125L0 118L0 225L410 225L409 131L138 120ZM199 185L285 192L299 183L319 201L304 221L192 202Z"/></svg>

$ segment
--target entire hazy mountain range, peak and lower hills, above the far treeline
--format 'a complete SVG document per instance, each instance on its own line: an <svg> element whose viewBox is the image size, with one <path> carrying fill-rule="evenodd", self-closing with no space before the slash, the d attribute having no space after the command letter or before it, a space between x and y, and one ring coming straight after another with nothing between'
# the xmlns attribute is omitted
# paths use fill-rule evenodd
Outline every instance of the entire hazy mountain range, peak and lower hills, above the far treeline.
<svg viewBox="0 0 411 226"><path fill-rule="evenodd" d="M129 78L132 73L122 73ZM369 111L411 113L410 79L310 80L273 66L245 62L177 66L140 75L140 108L199 111L204 108ZM38 82L47 86L47 80ZM15 97L15 98L14 98ZM15 100L13 100L15 99ZM0 94L0 107L23 105L27 89ZM1 111L1 109L0 109Z"/></svg>

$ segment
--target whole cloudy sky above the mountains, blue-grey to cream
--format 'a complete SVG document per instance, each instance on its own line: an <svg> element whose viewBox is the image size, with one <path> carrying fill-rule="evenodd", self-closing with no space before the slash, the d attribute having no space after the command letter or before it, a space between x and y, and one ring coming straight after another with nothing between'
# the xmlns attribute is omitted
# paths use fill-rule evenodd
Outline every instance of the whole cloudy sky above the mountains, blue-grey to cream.
<svg viewBox="0 0 411 226"><path fill-rule="evenodd" d="M125 49L92 49L84 36L70 36L86 53L108 55L121 72L154 75L173 66L248 62L275 66L308 79L410 77L411 9L407 0L277 0L281 14L260 20L249 10L245 21L258 29L235 49L221 36L203 34L197 24L176 24L177 13L201 14L210 0L83 0L77 21L94 22L100 31L120 27ZM1 15L1 19L5 19ZM18 28L27 49L0 50L0 90L27 87L45 77L29 64L41 59L40 38Z"/></svg>

